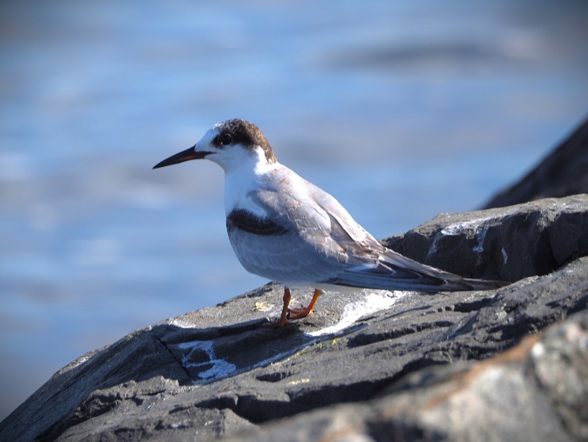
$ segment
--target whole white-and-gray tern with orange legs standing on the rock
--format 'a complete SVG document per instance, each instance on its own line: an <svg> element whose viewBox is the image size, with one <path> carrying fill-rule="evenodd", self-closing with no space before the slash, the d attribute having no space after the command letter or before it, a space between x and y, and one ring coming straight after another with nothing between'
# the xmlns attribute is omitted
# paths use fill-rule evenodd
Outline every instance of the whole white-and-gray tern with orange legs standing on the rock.
<svg viewBox="0 0 588 442"><path fill-rule="evenodd" d="M262 131L246 120L216 123L153 169L203 158L225 172L226 230L239 262L283 284L282 312L272 326L312 314L323 290L435 293L506 285L445 272L383 246L335 197L279 163ZM315 290L307 307L289 308L293 287Z"/></svg>

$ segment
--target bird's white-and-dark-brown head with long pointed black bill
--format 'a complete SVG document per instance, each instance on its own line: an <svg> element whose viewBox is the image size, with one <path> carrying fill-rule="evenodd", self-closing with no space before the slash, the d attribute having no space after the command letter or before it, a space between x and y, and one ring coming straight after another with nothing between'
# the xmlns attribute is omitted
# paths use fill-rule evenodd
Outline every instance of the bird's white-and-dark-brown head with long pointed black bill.
<svg viewBox="0 0 588 442"><path fill-rule="evenodd" d="M258 126L236 118L215 124L194 146L163 160L153 169L201 158L212 160L225 172L244 163L270 165L276 162L276 156Z"/></svg>

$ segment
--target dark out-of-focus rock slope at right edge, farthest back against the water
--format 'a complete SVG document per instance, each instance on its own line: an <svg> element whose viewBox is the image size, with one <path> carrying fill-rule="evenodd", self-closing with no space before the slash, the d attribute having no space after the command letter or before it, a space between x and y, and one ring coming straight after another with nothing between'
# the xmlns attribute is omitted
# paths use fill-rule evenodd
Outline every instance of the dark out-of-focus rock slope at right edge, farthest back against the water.
<svg viewBox="0 0 588 442"><path fill-rule="evenodd" d="M495 195L483 208L577 193L588 193L588 120L523 179Z"/></svg>

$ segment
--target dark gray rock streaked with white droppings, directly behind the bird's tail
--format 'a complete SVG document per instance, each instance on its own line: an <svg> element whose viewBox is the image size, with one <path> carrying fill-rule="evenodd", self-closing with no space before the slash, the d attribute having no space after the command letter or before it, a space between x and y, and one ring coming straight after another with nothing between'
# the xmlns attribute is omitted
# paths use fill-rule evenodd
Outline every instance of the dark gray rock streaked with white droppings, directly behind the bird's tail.
<svg viewBox="0 0 588 442"><path fill-rule="evenodd" d="M419 262L467 277L516 281L588 255L586 195L441 213L382 241Z"/></svg>

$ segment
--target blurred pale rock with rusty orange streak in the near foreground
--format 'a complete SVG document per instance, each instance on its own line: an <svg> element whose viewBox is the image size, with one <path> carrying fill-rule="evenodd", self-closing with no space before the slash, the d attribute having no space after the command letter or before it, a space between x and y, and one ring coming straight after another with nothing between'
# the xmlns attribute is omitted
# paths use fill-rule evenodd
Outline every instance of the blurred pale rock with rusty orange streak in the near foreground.
<svg viewBox="0 0 588 442"><path fill-rule="evenodd" d="M484 361L424 369L369 401L223 440L586 440L588 313Z"/></svg>

